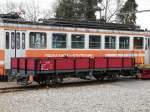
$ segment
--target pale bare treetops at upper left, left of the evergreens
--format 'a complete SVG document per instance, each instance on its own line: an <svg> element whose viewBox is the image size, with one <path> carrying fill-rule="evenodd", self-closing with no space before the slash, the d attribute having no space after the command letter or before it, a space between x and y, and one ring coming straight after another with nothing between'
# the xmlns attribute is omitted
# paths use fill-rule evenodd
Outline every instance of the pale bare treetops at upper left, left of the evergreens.
<svg viewBox="0 0 150 112"><path fill-rule="evenodd" d="M0 2L0 13L22 13L21 17L29 21L37 21L39 18L50 18L54 13L51 9L41 9L37 0L25 2L5 1Z"/></svg>

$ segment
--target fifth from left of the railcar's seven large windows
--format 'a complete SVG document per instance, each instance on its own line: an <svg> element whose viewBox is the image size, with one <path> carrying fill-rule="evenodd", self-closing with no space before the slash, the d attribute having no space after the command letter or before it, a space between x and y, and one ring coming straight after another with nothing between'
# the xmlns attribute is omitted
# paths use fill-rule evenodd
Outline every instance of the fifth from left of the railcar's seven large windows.
<svg viewBox="0 0 150 112"><path fill-rule="evenodd" d="M115 36L105 36L105 49L116 49Z"/></svg>

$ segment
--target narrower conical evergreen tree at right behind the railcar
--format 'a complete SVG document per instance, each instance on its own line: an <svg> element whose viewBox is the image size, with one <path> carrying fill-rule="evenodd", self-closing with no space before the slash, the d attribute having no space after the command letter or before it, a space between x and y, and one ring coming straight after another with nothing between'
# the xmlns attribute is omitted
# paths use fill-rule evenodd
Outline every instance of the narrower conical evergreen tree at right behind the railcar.
<svg viewBox="0 0 150 112"><path fill-rule="evenodd" d="M123 7L120 9L118 19L122 24L136 24L137 3L135 0L127 0ZM130 13L131 12L131 13Z"/></svg>

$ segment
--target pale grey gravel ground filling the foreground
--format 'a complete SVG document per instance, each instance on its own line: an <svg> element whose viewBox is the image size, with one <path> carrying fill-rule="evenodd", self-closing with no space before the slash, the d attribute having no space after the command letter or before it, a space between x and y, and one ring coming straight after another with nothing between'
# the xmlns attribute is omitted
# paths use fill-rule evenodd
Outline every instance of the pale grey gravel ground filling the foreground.
<svg viewBox="0 0 150 112"><path fill-rule="evenodd" d="M150 112L150 80L0 94L0 112Z"/></svg>

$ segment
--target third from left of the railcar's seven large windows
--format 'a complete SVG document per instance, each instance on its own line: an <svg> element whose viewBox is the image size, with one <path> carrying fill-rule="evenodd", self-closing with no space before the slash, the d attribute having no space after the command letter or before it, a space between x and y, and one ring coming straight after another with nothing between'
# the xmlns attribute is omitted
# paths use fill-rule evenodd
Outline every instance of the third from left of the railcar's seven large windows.
<svg viewBox="0 0 150 112"><path fill-rule="evenodd" d="M84 35L72 34L71 41L73 49L84 49Z"/></svg>

